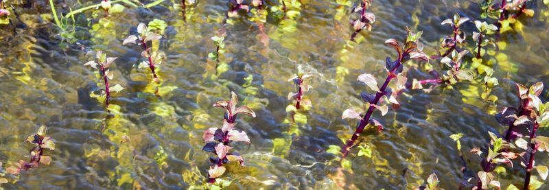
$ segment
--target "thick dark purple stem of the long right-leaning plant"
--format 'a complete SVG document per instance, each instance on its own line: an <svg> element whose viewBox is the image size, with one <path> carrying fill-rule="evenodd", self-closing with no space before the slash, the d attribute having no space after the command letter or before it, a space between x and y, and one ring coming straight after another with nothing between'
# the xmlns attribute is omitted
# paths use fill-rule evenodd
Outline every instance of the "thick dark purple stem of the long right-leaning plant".
<svg viewBox="0 0 549 190"><path fill-rule="evenodd" d="M375 110L375 107L373 105L377 105L377 103L379 102L379 99L381 99L381 97L384 95L385 89L389 85L390 80L393 80L393 78L396 78L395 70L399 68L400 65L402 64L402 58L406 56L404 54L406 53L399 54L399 59L397 64L395 64L395 67L393 67L393 69L390 70L390 73L387 74L387 78L385 82L383 83L382 87L379 88L380 92L375 93L375 98L372 100L372 102L370 102L370 106L366 111L366 114L364 115L364 117L362 117L362 120L360 120L360 123L358 124L355 130L355 133L353 133L353 136L351 137L351 139L349 139L349 141L347 141L347 143L341 149L341 153L343 154L342 158L347 157L347 154L349 154L349 152L351 151L351 147L353 147L353 144L355 143L356 139L358 139L358 136L360 136L360 133L362 133L364 128L366 128L366 125L368 125L370 121L370 117L372 116L373 110Z"/></svg>

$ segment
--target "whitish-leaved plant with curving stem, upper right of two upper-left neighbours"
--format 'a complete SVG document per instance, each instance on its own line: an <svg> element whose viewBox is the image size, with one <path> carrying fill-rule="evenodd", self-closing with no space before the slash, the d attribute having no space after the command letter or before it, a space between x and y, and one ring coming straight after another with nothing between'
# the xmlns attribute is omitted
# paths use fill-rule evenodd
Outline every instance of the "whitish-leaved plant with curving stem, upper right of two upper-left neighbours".
<svg viewBox="0 0 549 190"><path fill-rule="evenodd" d="M143 58L147 58L148 60L143 60L143 62L139 63L137 67L139 69L149 67L152 72L153 81L160 82L159 77L156 75L156 71L154 70L154 66L161 64L165 59L165 55L162 52L157 51L158 43L162 36L152 32L147 25L145 25L145 23L139 23L139 25L137 25L137 33L139 33L139 35L130 35L128 38L124 39L122 45L126 45L128 43L139 45L141 49L143 49L141 56L143 56ZM151 45L147 45L148 43Z"/></svg>

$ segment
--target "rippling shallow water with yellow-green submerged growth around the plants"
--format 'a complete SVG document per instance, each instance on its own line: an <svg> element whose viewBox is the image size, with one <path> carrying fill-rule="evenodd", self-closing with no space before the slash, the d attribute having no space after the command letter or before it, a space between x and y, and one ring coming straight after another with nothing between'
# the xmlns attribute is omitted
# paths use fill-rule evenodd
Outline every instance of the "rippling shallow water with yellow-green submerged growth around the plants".
<svg viewBox="0 0 549 190"><path fill-rule="evenodd" d="M406 26L423 30L426 52L433 54L439 39L451 32L441 21L454 12L480 19L476 1L374 1L371 12L377 21L372 31L359 34L364 40L349 49L344 59L341 50L351 34L349 13L339 21L334 19L334 1L307 1L296 17L295 32L281 34L276 21L268 19L267 47L257 40L259 30L254 22L233 19L233 24L226 26L226 53L220 58L230 69L212 80L215 62L207 55L215 49L210 38L222 27L225 1L199 1L187 12L187 23L180 12L172 10L170 1L150 10L126 8L95 30L91 26L99 21L86 12L77 17L86 15L91 21L77 27L75 42L62 40L56 26L40 18L40 14L51 13L47 2L14 4L19 12L15 33L13 27L0 27L1 67L7 71L0 77L0 161L6 167L27 160L30 145L23 140L41 125L49 127L48 134L57 147L47 152L53 157L51 165L31 169L17 182L2 185L7 189L188 189L202 185L212 156L201 151L202 132L221 126L222 109L211 105L229 99L231 91L257 114L237 121L237 128L250 136L251 145L234 145L244 156L246 167L229 167L231 172L225 178L233 179L231 188L336 189L332 178L338 169L327 164L334 156L325 150L329 145L342 145L340 138L351 135L355 128L355 123L340 119L342 110L358 105L360 92L366 90L355 79L361 73L383 76L385 57L395 56L384 40L401 40ZM66 4L64 7L58 1L58 11L84 6L69 0ZM401 95L401 108L390 109L384 117L379 112L373 115L385 130L364 135L363 143L373 147L372 158L350 156L353 171L341 174L347 188L412 189L436 172L440 187L457 189L463 177L461 162L448 137L457 132L465 134L461 141L468 167L480 169L480 158L468 150L487 143L487 131L505 130L493 113L517 104L514 82L549 80L549 45L545 43L549 40L549 17L542 13L547 7L541 1L528 5L536 14L520 20L524 32L498 37L507 43L501 50L507 59L494 67L500 80L493 91L498 101L485 102L478 96L478 84L468 82L454 89ZM162 97L143 93L150 84L150 72L132 67L141 60L141 50L121 45L126 36L135 33L138 23L152 19L163 19L169 25L161 40L167 60L159 66L159 75L162 86L172 91ZM473 29L472 23L465 27L469 34ZM82 65L89 60L84 56L89 49L118 57L111 68L115 72L111 82L126 89L113 95L113 104L121 107L117 117L108 117L104 106L89 97L102 88L97 86L101 81L95 73ZM290 129L283 121L290 104L286 96L294 91L294 85L287 80L296 64L309 64L323 77L315 78L314 88L305 93L313 103L307 113L308 124L299 128L301 134L291 137L290 150L273 152L272 139L288 138ZM338 75L338 67L346 67L349 74ZM253 75L255 94L246 94L242 87L248 75ZM427 76L422 71L410 71L409 75ZM541 96L544 102L547 94ZM129 143L121 143L124 133ZM539 164L549 164L547 155L536 158ZM508 171L498 175L502 187L524 176L524 169Z"/></svg>

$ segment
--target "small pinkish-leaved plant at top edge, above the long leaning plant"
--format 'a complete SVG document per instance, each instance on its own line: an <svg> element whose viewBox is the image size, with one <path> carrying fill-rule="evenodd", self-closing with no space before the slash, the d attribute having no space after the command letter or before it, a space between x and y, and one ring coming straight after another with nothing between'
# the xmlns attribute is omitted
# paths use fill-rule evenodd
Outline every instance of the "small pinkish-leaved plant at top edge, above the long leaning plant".
<svg viewBox="0 0 549 190"><path fill-rule="evenodd" d="M353 28L353 34L351 34L351 41L355 40L355 36L362 31L362 29L372 30L372 24L375 22L375 14L366 12L372 5L372 0L362 0L360 6L353 9L353 12L360 12L360 19L355 19L349 23Z"/></svg>

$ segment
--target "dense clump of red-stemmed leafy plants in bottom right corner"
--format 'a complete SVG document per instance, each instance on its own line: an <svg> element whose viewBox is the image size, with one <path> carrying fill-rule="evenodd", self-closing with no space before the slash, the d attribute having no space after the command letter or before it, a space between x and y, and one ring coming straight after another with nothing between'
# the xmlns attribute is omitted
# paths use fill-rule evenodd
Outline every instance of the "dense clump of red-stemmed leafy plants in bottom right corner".
<svg viewBox="0 0 549 190"><path fill-rule="evenodd" d="M513 167L513 160L526 167L524 182L513 183L507 189L539 189L546 180L549 170L545 165L535 165L535 153L548 150L549 137L537 135L537 130L549 126L549 103L543 104L539 99L543 84L537 82L527 88L516 84L517 97L520 99L518 108L504 107L495 115L495 119L504 126L509 126L504 135L489 132L490 144L487 154L482 158L482 171L478 171L477 189L500 189L500 182L495 180L495 170L498 165ZM530 142L528 142L530 141ZM480 148L473 148L471 153L482 155ZM532 176L537 170L539 178Z"/></svg>

